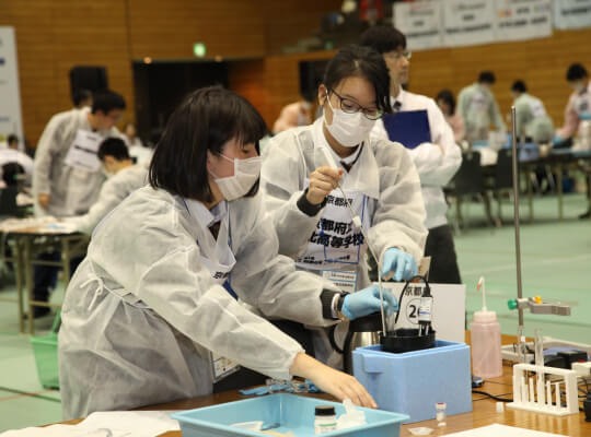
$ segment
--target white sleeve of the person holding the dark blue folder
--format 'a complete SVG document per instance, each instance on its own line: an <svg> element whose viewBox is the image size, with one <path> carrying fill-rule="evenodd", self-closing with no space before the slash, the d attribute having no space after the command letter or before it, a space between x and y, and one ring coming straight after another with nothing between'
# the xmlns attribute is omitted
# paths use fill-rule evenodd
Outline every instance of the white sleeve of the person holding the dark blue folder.
<svg viewBox="0 0 591 437"><path fill-rule="evenodd" d="M462 153L455 144L452 129L433 101L429 101L427 111L434 144L422 143L408 153L422 186L444 187L460 168Z"/></svg>

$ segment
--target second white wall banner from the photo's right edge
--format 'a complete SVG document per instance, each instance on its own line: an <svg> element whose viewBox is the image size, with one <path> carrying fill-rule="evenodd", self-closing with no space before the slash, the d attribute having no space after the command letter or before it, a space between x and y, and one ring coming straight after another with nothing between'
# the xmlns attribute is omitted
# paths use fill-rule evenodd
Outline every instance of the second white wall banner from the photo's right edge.
<svg viewBox="0 0 591 437"><path fill-rule="evenodd" d="M497 40L552 35L551 0L497 0L495 4Z"/></svg>

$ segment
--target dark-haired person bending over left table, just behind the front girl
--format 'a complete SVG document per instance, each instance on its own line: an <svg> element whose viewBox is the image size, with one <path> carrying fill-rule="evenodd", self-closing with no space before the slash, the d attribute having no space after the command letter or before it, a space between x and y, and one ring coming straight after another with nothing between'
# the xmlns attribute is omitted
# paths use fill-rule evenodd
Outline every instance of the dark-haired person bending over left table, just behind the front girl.
<svg viewBox="0 0 591 437"><path fill-rule="evenodd" d="M103 141L97 155L107 180L101 188L96 203L84 215L65 218L65 222L73 224L77 231L89 235L126 197L148 182L148 165L134 164L127 145L120 138L107 138Z"/></svg>

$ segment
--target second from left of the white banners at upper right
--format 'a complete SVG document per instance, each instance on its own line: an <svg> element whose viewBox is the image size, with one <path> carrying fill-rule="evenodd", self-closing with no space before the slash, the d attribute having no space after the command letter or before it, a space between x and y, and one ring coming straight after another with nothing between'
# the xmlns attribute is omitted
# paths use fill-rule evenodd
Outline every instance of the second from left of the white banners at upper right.
<svg viewBox="0 0 591 437"><path fill-rule="evenodd" d="M495 42L495 2L445 0L441 3L445 46L475 46Z"/></svg>

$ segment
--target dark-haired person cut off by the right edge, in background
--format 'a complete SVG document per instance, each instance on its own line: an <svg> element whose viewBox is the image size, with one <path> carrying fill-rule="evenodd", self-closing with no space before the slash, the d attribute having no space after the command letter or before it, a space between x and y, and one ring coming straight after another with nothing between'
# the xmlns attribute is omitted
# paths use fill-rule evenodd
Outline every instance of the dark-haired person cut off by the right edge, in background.
<svg viewBox="0 0 591 437"><path fill-rule="evenodd" d="M555 147L569 147L581 120L591 120L591 82L587 69L580 63L572 63L566 74L572 88L565 108L565 122L554 137Z"/></svg>

